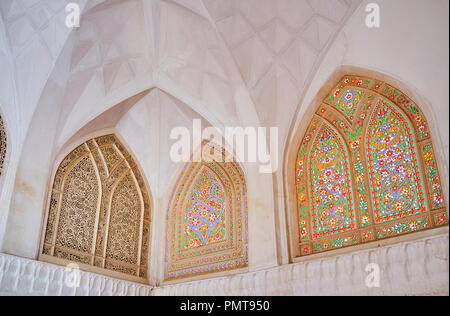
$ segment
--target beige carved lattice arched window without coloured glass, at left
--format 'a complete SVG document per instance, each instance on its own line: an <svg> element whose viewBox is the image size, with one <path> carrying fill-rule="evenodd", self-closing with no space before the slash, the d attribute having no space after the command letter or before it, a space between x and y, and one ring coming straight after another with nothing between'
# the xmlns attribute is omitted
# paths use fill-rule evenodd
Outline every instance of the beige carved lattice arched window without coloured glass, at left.
<svg viewBox="0 0 450 316"><path fill-rule="evenodd" d="M56 172L43 260L57 258L145 279L150 216L149 194L125 147L114 135L91 139Z"/></svg>

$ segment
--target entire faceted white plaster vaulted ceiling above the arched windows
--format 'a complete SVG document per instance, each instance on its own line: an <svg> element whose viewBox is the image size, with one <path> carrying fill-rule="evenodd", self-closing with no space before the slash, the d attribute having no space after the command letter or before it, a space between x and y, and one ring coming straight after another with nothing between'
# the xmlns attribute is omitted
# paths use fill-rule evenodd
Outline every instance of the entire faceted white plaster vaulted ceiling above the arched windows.
<svg viewBox="0 0 450 316"><path fill-rule="evenodd" d="M278 126L286 137L360 0L80 0L73 31L68 2L0 0L0 104L23 137L49 80L64 96L59 143L152 87L213 124Z"/></svg>

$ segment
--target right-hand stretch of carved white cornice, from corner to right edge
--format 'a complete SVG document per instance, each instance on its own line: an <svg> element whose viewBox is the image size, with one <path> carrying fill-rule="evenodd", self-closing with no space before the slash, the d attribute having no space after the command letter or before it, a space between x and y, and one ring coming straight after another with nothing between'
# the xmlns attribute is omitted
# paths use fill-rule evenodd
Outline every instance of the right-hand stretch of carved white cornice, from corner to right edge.
<svg viewBox="0 0 450 316"><path fill-rule="evenodd" d="M377 264L379 287L366 286L368 264ZM255 273L157 287L176 296L393 296L448 295L448 230L441 236L331 255Z"/></svg>

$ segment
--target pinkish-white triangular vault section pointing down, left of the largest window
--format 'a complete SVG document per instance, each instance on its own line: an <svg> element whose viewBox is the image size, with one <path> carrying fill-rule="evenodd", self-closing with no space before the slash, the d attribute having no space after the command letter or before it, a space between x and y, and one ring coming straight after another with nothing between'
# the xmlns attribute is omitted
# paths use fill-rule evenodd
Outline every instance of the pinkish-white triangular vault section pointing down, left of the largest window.
<svg viewBox="0 0 450 316"><path fill-rule="evenodd" d="M204 0L264 126L287 133L305 83L359 1Z"/></svg>

